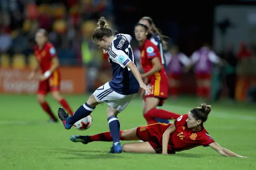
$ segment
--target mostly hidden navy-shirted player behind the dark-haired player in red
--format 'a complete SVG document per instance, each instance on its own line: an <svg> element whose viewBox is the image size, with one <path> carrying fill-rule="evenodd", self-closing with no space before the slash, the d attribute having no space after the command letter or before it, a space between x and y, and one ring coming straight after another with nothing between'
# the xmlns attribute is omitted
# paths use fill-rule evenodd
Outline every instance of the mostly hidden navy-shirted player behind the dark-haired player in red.
<svg viewBox="0 0 256 170"><path fill-rule="evenodd" d="M148 16L144 16L144 17L140 18L139 23L143 23L146 26L148 26L150 31L153 33L152 36L150 37L150 41L158 47L158 49L160 51L160 55L161 55L162 65L164 66L164 69L167 73L166 58L164 55L165 51L167 50L167 43L164 41L164 38L168 38L168 37L164 36L160 33L158 28L156 28L156 25L155 25L154 21L152 20L152 18L150 18ZM158 109L158 107L156 107L156 109ZM156 118L156 121L158 121L160 123L167 123L167 124L169 123L169 121L167 119Z"/></svg>

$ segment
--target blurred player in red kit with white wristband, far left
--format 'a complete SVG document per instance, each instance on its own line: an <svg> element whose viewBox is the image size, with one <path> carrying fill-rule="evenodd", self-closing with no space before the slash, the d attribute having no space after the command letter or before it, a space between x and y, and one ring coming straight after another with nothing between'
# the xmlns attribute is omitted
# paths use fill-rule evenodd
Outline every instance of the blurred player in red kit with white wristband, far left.
<svg viewBox="0 0 256 170"><path fill-rule="evenodd" d="M57 122L58 119L56 119L45 100L45 95L49 91L52 93L52 97L58 101L70 113L70 115L73 115L73 112L66 100L60 95L59 61L56 49L52 43L48 42L48 33L46 30L38 30L36 33L36 44L37 45L34 47L34 53L38 62L34 70L28 76L28 79L31 80L36 71L39 68L41 69L42 75L38 77L40 82L37 91L37 101L40 103L44 111L46 111L50 116L50 121Z"/></svg>

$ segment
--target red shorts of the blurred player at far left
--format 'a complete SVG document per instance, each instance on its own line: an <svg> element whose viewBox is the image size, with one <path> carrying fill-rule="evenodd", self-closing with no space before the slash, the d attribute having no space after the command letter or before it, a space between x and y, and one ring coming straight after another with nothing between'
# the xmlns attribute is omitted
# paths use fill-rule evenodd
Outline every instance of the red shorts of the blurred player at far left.
<svg viewBox="0 0 256 170"><path fill-rule="evenodd" d="M37 94L46 95L49 91L60 91L60 73L54 71L49 79L40 81Z"/></svg>

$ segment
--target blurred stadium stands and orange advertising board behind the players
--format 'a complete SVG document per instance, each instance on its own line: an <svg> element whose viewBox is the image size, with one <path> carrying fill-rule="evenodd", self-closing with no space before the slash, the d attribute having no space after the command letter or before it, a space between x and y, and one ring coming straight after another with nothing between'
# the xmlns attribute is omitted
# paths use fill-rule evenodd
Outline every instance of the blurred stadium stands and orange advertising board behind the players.
<svg viewBox="0 0 256 170"><path fill-rule="evenodd" d="M62 92L94 91L111 78L107 55L90 39L97 19L105 16L115 30L134 37L136 22L142 16L150 16L170 37L169 48L178 45L180 51L190 56L203 42L208 42L220 57L230 63L237 61L232 65L236 74L235 100L246 101L248 91L253 93L256 84L256 7L252 1L221 2L188 6L176 2L163 6L144 0L1 0L0 93L36 91L37 82L27 82L25 78L34 67L34 34L38 28L50 33L50 42L58 49ZM132 41L132 47L139 60L136 41ZM226 70L214 67L212 100L228 96ZM190 71L182 76L180 93L196 93L193 75ZM251 100L255 101L255 94Z"/></svg>

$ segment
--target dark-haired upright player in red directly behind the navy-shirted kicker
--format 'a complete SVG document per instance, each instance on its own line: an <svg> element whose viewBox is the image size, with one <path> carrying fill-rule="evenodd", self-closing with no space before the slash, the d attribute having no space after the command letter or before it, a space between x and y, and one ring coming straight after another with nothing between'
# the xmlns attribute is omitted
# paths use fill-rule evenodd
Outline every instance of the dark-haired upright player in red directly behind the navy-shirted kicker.
<svg viewBox="0 0 256 170"><path fill-rule="evenodd" d="M156 109L157 106L162 106L164 100L168 97L169 81L162 65L162 58L158 47L152 43L148 38L152 37L149 28L143 24L138 23L135 26L135 37L139 42L140 49L140 64L144 73L141 75L142 79L146 78L144 82L151 88L152 94L145 93L142 90L143 116L148 124L157 123L157 117L161 119L177 119L180 115L163 110Z"/></svg>

